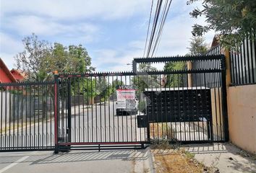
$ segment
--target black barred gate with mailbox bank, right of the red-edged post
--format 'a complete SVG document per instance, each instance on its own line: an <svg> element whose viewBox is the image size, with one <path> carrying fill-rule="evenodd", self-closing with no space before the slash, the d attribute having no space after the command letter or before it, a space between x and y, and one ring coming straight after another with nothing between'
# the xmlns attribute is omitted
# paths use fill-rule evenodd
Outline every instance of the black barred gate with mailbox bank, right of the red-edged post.
<svg viewBox="0 0 256 173"><path fill-rule="evenodd" d="M148 71L150 63L182 68ZM132 72L57 74L55 80L56 152L229 138L223 56L135 58ZM120 113L116 86L135 89L135 100L124 104L136 111Z"/></svg>

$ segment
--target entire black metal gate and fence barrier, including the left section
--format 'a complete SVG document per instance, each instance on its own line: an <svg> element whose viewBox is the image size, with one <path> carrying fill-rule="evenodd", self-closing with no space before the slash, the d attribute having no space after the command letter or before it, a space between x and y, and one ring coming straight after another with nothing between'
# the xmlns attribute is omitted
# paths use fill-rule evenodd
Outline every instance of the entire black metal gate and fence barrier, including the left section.
<svg viewBox="0 0 256 173"><path fill-rule="evenodd" d="M129 72L56 74L54 81L0 84L0 151L229 141L224 58L135 58ZM150 63L188 66L141 68ZM121 103L117 93L134 98L127 95Z"/></svg>

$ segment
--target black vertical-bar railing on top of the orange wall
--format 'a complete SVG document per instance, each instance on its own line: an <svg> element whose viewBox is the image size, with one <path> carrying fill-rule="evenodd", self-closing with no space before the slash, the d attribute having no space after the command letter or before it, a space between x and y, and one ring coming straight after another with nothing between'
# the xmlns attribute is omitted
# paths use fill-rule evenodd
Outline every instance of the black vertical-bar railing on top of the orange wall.
<svg viewBox="0 0 256 173"><path fill-rule="evenodd" d="M256 41L248 37L230 51L231 85L256 84Z"/></svg>

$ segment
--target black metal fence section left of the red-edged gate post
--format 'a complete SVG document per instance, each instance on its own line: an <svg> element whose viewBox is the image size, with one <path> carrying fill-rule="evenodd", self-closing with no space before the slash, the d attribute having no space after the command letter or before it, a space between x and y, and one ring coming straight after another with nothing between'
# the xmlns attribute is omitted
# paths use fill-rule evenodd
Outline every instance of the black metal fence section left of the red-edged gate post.
<svg viewBox="0 0 256 173"><path fill-rule="evenodd" d="M53 84L0 84L0 151L54 148Z"/></svg>

